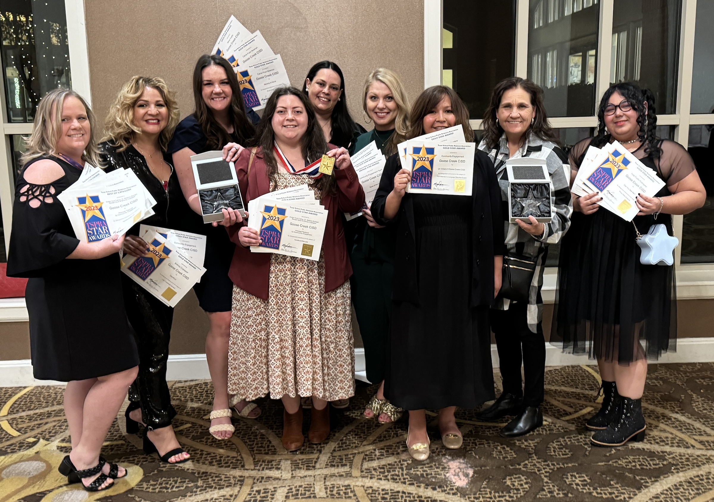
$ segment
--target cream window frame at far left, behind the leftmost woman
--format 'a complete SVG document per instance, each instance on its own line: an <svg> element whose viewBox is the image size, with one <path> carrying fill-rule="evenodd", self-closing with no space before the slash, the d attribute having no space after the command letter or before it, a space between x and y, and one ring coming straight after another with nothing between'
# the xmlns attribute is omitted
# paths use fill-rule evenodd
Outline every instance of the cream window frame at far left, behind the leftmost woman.
<svg viewBox="0 0 714 502"><path fill-rule="evenodd" d="M84 0L64 0L67 21L67 41L69 43L69 67L72 75L72 89L79 92L91 106L89 81L89 56L84 24ZM0 209L5 241L5 251L10 249L10 229L12 227L12 204L15 196L13 161L10 146L14 134L32 134L31 122L9 122L7 116L5 84L0 85L0 108L2 118L2 138L0 139Z"/></svg>

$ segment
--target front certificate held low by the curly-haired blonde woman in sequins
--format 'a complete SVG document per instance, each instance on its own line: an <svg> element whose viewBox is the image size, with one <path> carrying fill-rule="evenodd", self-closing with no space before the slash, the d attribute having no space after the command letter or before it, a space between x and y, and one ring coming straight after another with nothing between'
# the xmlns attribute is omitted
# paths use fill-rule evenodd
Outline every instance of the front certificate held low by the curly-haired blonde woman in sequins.
<svg viewBox="0 0 714 502"><path fill-rule="evenodd" d="M154 231L144 236L149 250L144 256L124 255L121 271L170 307L175 307L206 271L178 251L177 246Z"/></svg>

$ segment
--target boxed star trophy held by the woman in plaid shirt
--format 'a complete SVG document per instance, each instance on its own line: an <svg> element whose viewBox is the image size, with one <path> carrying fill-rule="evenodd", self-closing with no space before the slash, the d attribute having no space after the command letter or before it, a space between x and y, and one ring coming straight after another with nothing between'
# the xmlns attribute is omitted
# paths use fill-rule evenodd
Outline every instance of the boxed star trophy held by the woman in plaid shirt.
<svg viewBox="0 0 714 502"><path fill-rule="evenodd" d="M545 159L523 157L506 161L508 174L508 221L536 221L547 223L552 216L550 206L550 176Z"/></svg>

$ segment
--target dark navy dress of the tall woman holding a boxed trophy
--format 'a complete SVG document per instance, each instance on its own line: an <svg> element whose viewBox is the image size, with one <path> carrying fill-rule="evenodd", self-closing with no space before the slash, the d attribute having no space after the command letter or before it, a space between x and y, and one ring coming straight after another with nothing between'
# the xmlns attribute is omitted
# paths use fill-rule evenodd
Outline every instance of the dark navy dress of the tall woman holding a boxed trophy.
<svg viewBox="0 0 714 502"><path fill-rule="evenodd" d="M176 127L167 153L171 155L188 148L194 154L203 154L204 151L210 150L206 146L207 141L196 117L189 115ZM238 144L245 142L235 133L231 135L231 141ZM193 286L193 291L196 291L198 296L198 304L206 312L230 312L233 281L228 277L228 268L231 268L236 245L228 239L228 232L223 226L204 224L201 215L194 211L186 217L186 226L187 231L206 236L206 258L203 261L206 272L203 273L201 282Z"/></svg>

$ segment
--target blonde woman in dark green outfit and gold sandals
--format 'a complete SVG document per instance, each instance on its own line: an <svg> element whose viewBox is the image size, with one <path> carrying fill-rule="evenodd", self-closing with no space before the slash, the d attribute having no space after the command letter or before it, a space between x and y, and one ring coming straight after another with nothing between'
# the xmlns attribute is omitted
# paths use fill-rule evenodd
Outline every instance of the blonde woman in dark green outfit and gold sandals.
<svg viewBox="0 0 714 502"><path fill-rule="evenodd" d="M396 154L409 131L409 100L399 76L378 68L367 76L362 93L366 121L374 129L357 138L354 151L372 141L386 156ZM396 421L402 413L384 398L384 366L391 312L391 286L395 246L395 226L380 226L369 208L364 217L346 224L345 236L353 268L352 302L364 342L367 379L379 388L367 404L364 416L378 417L381 423Z"/></svg>

